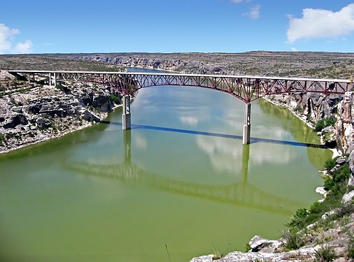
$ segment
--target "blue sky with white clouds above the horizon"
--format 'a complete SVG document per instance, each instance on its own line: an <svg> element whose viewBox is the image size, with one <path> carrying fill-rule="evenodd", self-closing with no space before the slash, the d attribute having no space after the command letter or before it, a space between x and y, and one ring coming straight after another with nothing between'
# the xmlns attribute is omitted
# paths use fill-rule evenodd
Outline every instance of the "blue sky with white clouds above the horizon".
<svg viewBox="0 0 354 262"><path fill-rule="evenodd" d="M354 51L354 1L3 0L0 54Z"/></svg>

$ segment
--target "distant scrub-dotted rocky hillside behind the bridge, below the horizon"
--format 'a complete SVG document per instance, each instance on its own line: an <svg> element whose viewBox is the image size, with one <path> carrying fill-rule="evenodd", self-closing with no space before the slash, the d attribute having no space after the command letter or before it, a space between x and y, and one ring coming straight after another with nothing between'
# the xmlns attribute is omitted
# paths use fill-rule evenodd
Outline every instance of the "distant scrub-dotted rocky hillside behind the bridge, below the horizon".
<svg viewBox="0 0 354 262"><path fill-rule="evenodd" d="M81 61L113 66L136 66L183 73L223 75L275 75L348 79L354 70L354 54L329 52L244 53L108 53L67 54Z"/></svg>

